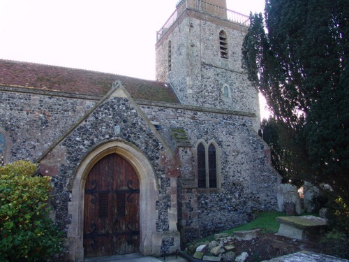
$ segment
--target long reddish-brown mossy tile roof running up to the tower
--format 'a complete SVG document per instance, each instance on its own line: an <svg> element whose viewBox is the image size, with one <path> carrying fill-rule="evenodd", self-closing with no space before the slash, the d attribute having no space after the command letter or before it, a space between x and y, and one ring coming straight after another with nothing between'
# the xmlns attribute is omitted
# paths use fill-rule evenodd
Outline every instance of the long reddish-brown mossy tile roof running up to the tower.
<svg viewBox="0 0 349 262"><path fill-rule="evenodd" d="M133 99L179 103L168 83L60 66L0 59L0 85L104 95L121 80Z"/></svg>

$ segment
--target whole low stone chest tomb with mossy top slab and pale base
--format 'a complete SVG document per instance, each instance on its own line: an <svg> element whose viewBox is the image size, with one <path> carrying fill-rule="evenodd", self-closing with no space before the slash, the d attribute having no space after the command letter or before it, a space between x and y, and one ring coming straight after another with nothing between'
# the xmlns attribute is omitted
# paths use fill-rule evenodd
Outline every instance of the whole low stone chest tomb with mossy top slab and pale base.
<svg viewBox="0 0 349 262"><path fill-rule="evenodd" d="M278 235L305 240L309 233L318 233L325 229L326 219L314 216L276 217L280 223Z"/></svg>

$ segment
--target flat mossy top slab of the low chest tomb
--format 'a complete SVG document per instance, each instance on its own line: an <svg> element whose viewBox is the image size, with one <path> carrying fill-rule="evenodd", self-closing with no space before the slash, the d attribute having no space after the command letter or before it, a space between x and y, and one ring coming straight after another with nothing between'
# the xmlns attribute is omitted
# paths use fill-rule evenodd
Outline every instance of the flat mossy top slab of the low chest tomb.
<svg viewBox="0 0 349 262"><path fill-rule="evenodd" d="M276 217L276 221L278 221L280 224L286 224L302 230L327 225L326 219L315 216Z"/></svg>

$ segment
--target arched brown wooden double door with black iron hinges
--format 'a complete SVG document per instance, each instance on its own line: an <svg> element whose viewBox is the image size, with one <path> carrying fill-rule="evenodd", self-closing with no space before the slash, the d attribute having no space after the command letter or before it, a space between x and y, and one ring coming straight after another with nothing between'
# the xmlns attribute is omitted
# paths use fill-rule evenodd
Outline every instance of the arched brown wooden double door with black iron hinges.
<svg viewBox="0 0 349 262"><path fill-rule="evenodd" d="M98 161L84 188L84 256L138 252L140 186L135 170L118 154Z"/></svg>

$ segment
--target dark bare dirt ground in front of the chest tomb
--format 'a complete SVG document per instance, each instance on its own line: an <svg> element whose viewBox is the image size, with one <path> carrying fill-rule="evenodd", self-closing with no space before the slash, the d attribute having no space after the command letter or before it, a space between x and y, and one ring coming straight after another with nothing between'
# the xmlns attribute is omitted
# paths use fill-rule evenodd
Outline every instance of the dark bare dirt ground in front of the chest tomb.
<svg viewBox="0 0 349 262"><path fill-rule="evenodd" d="M302 250L349 259L349 241L320 242L320 237L310 236L308 240L294 240L273 233L261 233L248 241L235 240L235 253L248 252L246 261L263 261Z"/></svg>

